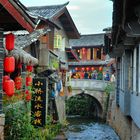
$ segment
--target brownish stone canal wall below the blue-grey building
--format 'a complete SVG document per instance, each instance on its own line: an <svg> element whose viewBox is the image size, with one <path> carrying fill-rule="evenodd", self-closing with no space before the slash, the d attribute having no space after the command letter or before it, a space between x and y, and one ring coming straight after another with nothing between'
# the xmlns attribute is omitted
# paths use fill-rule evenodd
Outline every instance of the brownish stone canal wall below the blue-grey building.
<svg viewBox="0 0 140 140"><path fill-rule="evenodd" d="M112 102L108 123L113 127L121 140L140 140L140 129L130 117L124 116L120 108Z"/></svg>

